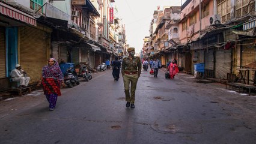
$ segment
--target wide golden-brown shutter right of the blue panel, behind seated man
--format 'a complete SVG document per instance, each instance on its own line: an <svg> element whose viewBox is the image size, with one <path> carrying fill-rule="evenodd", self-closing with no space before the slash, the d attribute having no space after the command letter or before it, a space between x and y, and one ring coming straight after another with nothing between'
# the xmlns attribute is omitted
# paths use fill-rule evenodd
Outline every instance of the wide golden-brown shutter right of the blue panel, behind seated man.
<svg viewBox="0 0 256 144"><path fill-rule="evenodd" d="M46 32L29 26L20 28L20 64L31 77L30 83L37 82L46 65Z"/></svg>

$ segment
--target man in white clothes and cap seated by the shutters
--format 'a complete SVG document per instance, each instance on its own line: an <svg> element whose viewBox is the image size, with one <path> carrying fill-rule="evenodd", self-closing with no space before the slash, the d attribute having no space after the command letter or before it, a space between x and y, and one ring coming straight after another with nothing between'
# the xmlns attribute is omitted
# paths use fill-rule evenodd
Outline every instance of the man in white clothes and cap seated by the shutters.
<svg viewBox="0 0 256 144"><path fill-rule="evenodd" d="M26 72L21 69L19 64L16 64L15 67L16 68L11 71L11 80L13 80L13 82L20 82L19 88L26 88L30 77L26 76Z"/></svg>

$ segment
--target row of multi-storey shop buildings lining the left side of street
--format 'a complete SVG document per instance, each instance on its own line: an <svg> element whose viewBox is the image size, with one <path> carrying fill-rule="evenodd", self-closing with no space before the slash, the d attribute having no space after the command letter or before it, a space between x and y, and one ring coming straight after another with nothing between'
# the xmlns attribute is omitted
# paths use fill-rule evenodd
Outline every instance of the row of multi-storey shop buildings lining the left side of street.
<svg viewBox="0 0 256 144"><path fill-rule="evenodd" d="M16 64L28 72L32 84L51 57L91 68L109 59L115 53L109 46L113 2L1 0L0 89L10 89L9 74Z"/></svg>

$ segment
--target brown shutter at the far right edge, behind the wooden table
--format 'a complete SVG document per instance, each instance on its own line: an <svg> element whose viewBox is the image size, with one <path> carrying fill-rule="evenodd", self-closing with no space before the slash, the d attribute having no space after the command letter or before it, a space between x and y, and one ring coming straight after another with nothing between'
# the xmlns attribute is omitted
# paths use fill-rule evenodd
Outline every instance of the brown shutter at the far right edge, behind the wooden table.
<svg viewBox="0 0 256 144"><path fill-rule="evenodd" d="M252 43L252 41L248 41L247 43ZM243 42L243 44L246 44ZM254 62L256 59L256 52L254 46L251 45L246 45L243 46L243 51L242 51L242 66L248 65L252 62ZM254 71L249 71L250 76L249 79L254 79Z"/></svg>

